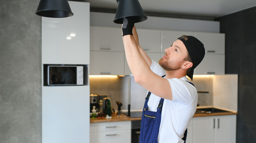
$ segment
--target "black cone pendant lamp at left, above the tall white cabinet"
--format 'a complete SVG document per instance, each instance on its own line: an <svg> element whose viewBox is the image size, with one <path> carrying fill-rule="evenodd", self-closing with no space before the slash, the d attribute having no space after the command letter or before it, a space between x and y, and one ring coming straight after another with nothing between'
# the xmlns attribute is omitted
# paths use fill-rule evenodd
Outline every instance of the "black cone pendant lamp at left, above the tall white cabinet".
<svg viewBox="0 0 256 143"><path fill-rule="evenodd" d="M51 18L63 18L74 15L68 0L40 0L35 14Z"/></svg>

